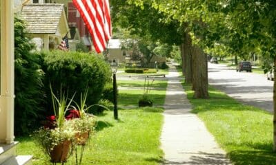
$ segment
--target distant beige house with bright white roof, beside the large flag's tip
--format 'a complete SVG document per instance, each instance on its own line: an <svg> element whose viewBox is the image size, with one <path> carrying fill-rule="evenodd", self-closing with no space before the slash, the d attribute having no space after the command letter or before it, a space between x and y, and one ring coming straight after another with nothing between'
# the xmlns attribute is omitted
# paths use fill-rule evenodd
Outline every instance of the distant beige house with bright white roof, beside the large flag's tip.
<svg viewBox="0 0 276 165"><path fill-rule="evenodd" d="M110 39L108 42L108 61L115 60L119 63L125 63L125 57L121 50L121 41L119 39Z"/></svg>

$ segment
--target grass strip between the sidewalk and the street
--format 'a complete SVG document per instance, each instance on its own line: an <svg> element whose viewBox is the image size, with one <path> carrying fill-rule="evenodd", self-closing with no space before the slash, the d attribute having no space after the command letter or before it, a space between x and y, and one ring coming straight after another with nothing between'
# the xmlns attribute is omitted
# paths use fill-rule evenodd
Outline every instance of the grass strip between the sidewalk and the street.
<svg viewBox="0 0 276 165"><path fill-rule="evenodd" d="M193 104L193 113L204 121L233 164L276 164L272 148L273 115L240 104L213 88L209 89L209 99L193 99L190 86L184 88Z"/></svg>

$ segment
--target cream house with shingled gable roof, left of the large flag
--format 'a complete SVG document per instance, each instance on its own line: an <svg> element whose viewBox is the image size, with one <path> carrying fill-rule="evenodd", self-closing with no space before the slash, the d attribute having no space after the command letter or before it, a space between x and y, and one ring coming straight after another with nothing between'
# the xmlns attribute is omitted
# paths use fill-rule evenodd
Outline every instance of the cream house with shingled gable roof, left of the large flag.
<svg viewBox="0 0 276 165"><path fill-rule="evenodd" d="M21 17L26 22L30 38L40 38L43 49L55 49L68 34L68 22L63 4L33 3L22 6Z"/></svg>

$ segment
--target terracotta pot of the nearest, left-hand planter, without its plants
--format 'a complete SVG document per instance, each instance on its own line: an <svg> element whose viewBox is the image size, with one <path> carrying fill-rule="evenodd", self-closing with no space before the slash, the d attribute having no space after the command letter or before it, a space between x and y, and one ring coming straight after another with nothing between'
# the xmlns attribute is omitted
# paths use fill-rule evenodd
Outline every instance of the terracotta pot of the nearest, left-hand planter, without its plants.
<svg viewBox="0 0 276 165"><path fill-rule="evenodd" d="M52 148L52 151L50 151L51 162L66 162L68 158L68 153L70 151L70 144L70 140L65 140L61 142L61 144L57 144L57 146L54 146L54 148Z"/></svg>

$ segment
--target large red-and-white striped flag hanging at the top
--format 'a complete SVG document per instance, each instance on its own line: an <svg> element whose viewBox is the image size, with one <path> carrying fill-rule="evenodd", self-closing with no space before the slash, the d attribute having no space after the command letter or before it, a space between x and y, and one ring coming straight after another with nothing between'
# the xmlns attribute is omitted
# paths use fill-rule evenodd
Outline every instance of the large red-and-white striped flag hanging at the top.
<svg viewBox="0 0 276 165"><path fill-rule="evenodd" d="M111 19L108 0L72 0L86 23L97 53L106 50L111 38Z"/></svg>

